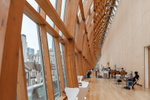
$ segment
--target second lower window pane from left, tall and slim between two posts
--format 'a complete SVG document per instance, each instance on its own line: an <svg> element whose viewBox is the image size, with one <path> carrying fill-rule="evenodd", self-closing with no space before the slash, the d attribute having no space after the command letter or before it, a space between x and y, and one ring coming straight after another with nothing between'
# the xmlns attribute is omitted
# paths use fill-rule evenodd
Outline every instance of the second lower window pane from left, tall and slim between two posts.
<svg viewBox="0 0 150 100"><path fill-rule="evenodd" d="M61 96L54 38L47 33L55 99Z"/></svg>

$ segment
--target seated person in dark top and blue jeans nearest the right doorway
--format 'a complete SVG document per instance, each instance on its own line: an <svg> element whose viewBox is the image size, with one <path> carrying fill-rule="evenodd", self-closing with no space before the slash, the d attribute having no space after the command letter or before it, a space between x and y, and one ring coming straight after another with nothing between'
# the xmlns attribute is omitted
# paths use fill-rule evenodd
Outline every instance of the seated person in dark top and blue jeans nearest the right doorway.
<svg viewBox="0 0 150 100"><path fill-rule="evenodd" d="M124 87L125 89L130 89L130 84L133 84L132 85L132 89L134 89L134 85L137 83L137 81L139 80L139 75L138 75L138 72L134 72L135 73L135 76L132 78L132 81L128 81L128 86L127 87Z"/></svg>

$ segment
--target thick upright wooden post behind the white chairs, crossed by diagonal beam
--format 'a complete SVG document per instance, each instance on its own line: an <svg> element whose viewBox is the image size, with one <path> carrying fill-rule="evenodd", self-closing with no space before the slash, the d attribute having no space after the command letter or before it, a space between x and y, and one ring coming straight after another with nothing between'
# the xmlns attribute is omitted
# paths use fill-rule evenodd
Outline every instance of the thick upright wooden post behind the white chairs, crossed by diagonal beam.
<svg viewBox="0 0 150 100"><path fill-rule="evenodd" d="M71 0L71 1L67 0L67 8L66 8L67 20L65 21L65 25L67 26L69 32L71 32L72 36L75 36L75 27L77 22L76 13L77 13L78 4L79 4L79 0ZM74 18L72 16L74 16ZM75 62L75 40L65 39L65 41L66 41L65 60L66 60L68 87L78 87L76 62Z"/></svg>

